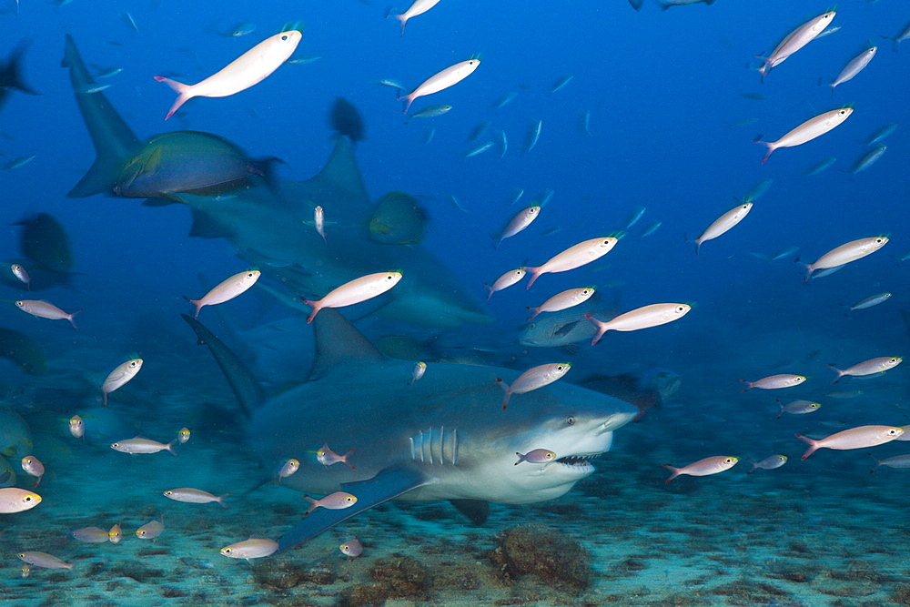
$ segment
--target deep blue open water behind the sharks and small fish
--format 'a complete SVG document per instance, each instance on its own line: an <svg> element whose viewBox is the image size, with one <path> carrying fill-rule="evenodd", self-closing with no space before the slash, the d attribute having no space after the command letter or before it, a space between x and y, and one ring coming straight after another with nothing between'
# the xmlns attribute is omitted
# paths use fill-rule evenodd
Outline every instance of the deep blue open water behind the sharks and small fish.
<svg viewBox="0 0 910 607"><path fill-rule="evenodd" d="M0 326L22 331L44 345L55 389L65 388L67 379L74 389L85 389L96 383L98 374L103 379L106 370L130 354L146 359L153 358L147 356L150 352L166 352L163 356L175 359L197 356L196 350L187 353L193 343L177 316L187 312L181 296L198 297L202 285L210 286L246 268L227 241L188 238L189 216L180 205L144 207L136 199L103 196L66 198L95 157L68 75L59 65L64 35L69 34L87 63L123 68L117 76L99 82L111 85L104 94L140 138L179 129L215 133L252 157L281 158L286 164L278 174L284 178L305 179L319 171L332 146L333 131L326 118L329 106L338 96L349 99L366 124L367 139L359 143L357 157L370 196L377 199L391 190L403 190L420 197L431 218L422 245L435 252L479 299L486 295L483 283L502 272L540 265L581 240L621 230L637 207L646 207L642 220L615 250L593 264L594 271L580 268L546 275L530 292L519 286L497 293L487 306L496 319L491 329L445 332L447 343L464 345L475 339L479 347L492 350L497 364L518 369L571 356L573 364L587 372L618 374L664 367L681 375L682 390L674 406L652 410L641 423L617 433L614 454L622 465L608 464L609 470L599 472L602 476L597 478L627 482L622 499L615 504L597 503L605 498L592 498L589 489L589 493L572 491L561 502L583 504L593 499L595 503L586 506L591 511L615 508L632 527L644 525L645 521L632 518L638 496L647 493L649 501L661 501L667 491L674 491L674 485L663 489L660 464L682 465L727 452L743 459L784 452L791 457L787 466L769 472L755 485L744 482L744 470L736 469L714 478L682 479L685 491L698 494L697 503L672 493L674 499L662 503L664 520L682 521L684 528L688 512L709 517L711 509L718 507L714 495L731 501L760 498L763 507L758 516L762 524L773 525L785 511L782 504L790 508L800 501L797 491L824 495L833 483L846 495L844 500L853 496L854 508L868 518L866 524L854 521L854 527L824 541L855 548L856 542L862 543L872 533L890 538L889 543L903 543L902 528L889 527L892 521L885 504L875 497L893 491L895 484L903 486L899 477L903 470L881 470L870 477L871 460L864 451L822 451L801 463L797 456L803 445L793 438L796 431L820 437L856 425L906 423L901 404L910 396L905 367L883 378L847 383L841 389L863 391L853 400L825 400L834 388L828 384L833 374L824 368L827 363L842 366L907 354L907 328L900 310L910 308L906 290L910 262L900 259L910 250L906 234L910 214L905 204L910 187L905 170L910 141L905 124L910 110L910 48L898 48L880 37L897 35L910 19L899 0L845 2L834 18L834 25L842 29L813 41L775 67L763 84L752 69L760 65L754 57L770 52L784 35L828 10L827 6L788 0L719 0L710 6L665 12L648 3L636 12L624 0L442 0L429 13L413 18L403 37L397 21L383 18L385 5L354 0L306 4L74 0L62 6L22 0L18 15L14 3L7 0L3 9L5 42L0 55L19 40L30 41L23 66L25 82L41 95L14 92L0 114L0 164L35 156L25 166L0 172L5 193L0 219L7 226L0 258L20 257L20 228L10 224L36 212L54 216L69 234L78 274L73 289L55 288L40 297L66 310L85 311L76 317L80 328L76 334L64 321L33 319L12 303L4 303ZM125 11L138 31L126 22ZM237 38L214 33L244 21L255 24L256 30ZM282 66L258 86L235 96L195 99L186 111L164 122L174 93L152 76L175 72L180 75L177 79L197 82L296 21L304 22L306 30L295 55L319 56L319 60ZM832 98L827 83L870 41L879 46L877 55L864 72L839 86ZM474 54L480 54L482 63L473 75L420 98L413 106L415 110L434 104L453 106L444 116L406 122L393 89L372 84L393 78L410 89ZM563 76L573 77L567 86L551 92L553 83ZM509 93L517 93L511 104L491 107ZM743 94L766 98L754 100ZM779 149L761 164L764 147L752 143L756 134L776 139L812 116L847 104L854 107L854 114L842 126L803 146ZM578 126L586 112L590 112L590 136ZM729 126L753 118L745 126ZM523 152L525 133L535 119L542 121L540 140L531 152ZM467 137L481 122L490 126L480 141L498 142L498 130L507 134L505 157L500 157L498 145L480 156L463 157L476 145ZM866 152L861 142L891 122L899 126L884 142L888 147L884 157L854 176L844 172ZM425 145L430 127L435 135ZM824 157L837 161L821 175L805 177L804 172ZM706 243L696 258L686 238L698 236L737 204L734 198L743 197L763 178L773 179L773 186L756 200L750 215L723 237ZM517 189L524 190L524 197L510 206ZM491 248L490 232L548 189L553 191L551 200L531 228L506 240L498 250ZM463 210L450 204L452 195ZM661 228L639 238L656 221L662 222ZM554 228L559 229L547 233ZM891 238L883 250L808 286L802 284L804 268L793 257L769 262L755 255L766 257L797 246L802 261L813 261L847 241L880 234ZM526 349L517 344L524 307L539 305L562 288L582 285L601 286L604 291L609 287L622 310L680 301L693 303L693 311L672 325L610 336L593 349L582 342L571 355L561 349ZM853 304L882 291L894 296L879 307L844 318L840 304ZM5 287L2 292L0 297L8 301L23 293ZM228 318L241 327L288 315L288 310L276 309L259 297L239 298L227 306ZM373 323L370 329L375 332L372 337L382 335L381 326ZM410 329L410 334L429 339L436 332ZM105 358L83 355L93 352L95 356L98 351ZM804 361L802 366L787 362L794 359ZM193 381L210 380L211 384L194 385L188 393L226 390L215 368L207 370L209 375ZM179 371L162 365L156 372L162 373L160 381L173 386L171 393L179 390ZM808 416L812 420L789 419L784 420L789 425L775 425L773 397L777 394L769 397L756 394L758 390L740 394L739 379L776 372L810 375L803 387L780 398L819 400L823 410ZM6 360L0 360L0 373L5 407L19 410L26 419L45 405L61 415L66 411L58 401L47 404L35 398L46 387L41 378L22 374ZM143 398L154 401L151 394ZM186 417L200 419L202 414L192 410L192 399L187 400ZM213 400L230 405L229 394L218 394ZM131 411L132 421L147 423L158 416L182 423L176 411L161 407L159 412ZM823 420L839 425L825 427ZM207 444L217 453L217 441ZM879 448L877 453L899 454L901 444ZM247 465L252 467L249 461ZM769 479L778 472L775 480L780 481L774 484ZM737 481L724 482L733 475ZM885 475L886 482L881 478ZM51 481L45 482L51 485ZM772 493L779 501L768 497ZM879 506L885 514L864 511ZM814 523L813 529L836 519L839 507L832 496L818 514L823 522ZM850 502L844 507L849 508ZM540 519L541 511L534 508L508 510L509 522ZM746 520L748 511L743 506L738 516ZM806 518L811 516L810 512ZM804 529L801 521L777 520L790 526L790 533L777 530L784 537ZM10 536L16 540L15 546L3 549L9 552L3 555L6 562L0 569L5 584L18 579L14 553L25 548L15 521L9 516L2 520L4 540ZM582 517L566 523L565 529L597 551L597 546L609 544L599 532L603 530L598 521ZM136 524L141 522L145 521ZM31 524L41 528L42 523L38 518ZM553 524L559 526L561 521ZM491 521L491 529L485 531L489 537L497 525L506 522ZM726 554L731 558L734 543ZM777 550L771 543L764 550L773 555ZM391 550L405 550L404 544ZM854 558L862 560L867 552L867 547L858 550ZM894 551L892 556L898 558L899 553ZM216 553L213 559L220 557ZM610 579L597 573L602 577L595 585ZM37 574L33 572L31 580ZM739 574L749 579L757 575L744 564ZM668 595L680 590L672 589L672 583L667 587ZM876 601L899 602L894 598L899 582L879 581L877 588ZM804 604L834 604L831 594L817 591L816 585L812 590L788 592ZM22 596L27 597L23 604L38 604L42 591ZM624 600L645 604L656 599L627 595ZM726 603L716 597L711 601L719 602L709 603L694 592L690 599L691 604L750 604ZM543 601L551 600L559 601L552 597ZM591 600L605 601L602 596ZM772 595L762 600L762 604L784 601ZM838 604L859 604L842 601Z"/></svg>

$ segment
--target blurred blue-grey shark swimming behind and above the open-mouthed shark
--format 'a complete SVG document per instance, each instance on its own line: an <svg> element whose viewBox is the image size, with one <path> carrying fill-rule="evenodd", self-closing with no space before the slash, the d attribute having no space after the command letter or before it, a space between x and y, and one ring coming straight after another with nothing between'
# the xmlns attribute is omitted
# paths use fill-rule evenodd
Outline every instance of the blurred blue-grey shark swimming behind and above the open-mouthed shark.
<svg viewBox="0 0 910 607"><path fill-rule="evenodd" d="M96 148L94 164L68 196L147 197L157 185L159 196L147 204L187 205L190 236L227 238L240 258L273 281L270 292L284 292L285 302L321 298L354 278L398 270L399 284L361 304L356 315L376 312L440 328L492 322L480 300L426 248L369 238L372 203L349 137L337 137L316 177L267 179L259 163L215 135L178 131L140 140L95 86L69 36L63 66ZM317 206L336 222L325 241L307 223Z"/></svg>

